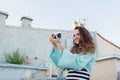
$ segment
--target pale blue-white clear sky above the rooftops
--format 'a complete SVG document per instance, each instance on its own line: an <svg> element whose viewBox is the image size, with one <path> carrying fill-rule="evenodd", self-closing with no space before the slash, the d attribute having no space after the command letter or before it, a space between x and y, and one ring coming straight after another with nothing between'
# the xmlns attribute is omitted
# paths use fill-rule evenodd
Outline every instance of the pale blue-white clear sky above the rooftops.
<svg viewBox="0 0 120 80"><path fill-rule="evenodd" d="M29 16L35 28L71 30L71 22L86 19L86 28L120 46L120 0L0 0L7 25L20 26Z"/></svg>

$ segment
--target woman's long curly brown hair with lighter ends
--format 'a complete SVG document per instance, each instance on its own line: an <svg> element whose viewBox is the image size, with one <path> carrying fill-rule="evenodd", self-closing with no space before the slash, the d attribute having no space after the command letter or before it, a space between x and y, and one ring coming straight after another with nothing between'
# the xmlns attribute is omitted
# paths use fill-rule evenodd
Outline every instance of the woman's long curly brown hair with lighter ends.
<svg viewBox="0 0 120 80"><path fill-rule="evenodd" d="M95 52L95 43L93 41L93 38L90 34L90 32L85 28L81 26L75 27L74 30L79 30L80 33L80 42L79 45L76 47L76 44L73 41L73 47L71 48L71 52L73 54L79 54L79 53L94 53Z"/></svg>

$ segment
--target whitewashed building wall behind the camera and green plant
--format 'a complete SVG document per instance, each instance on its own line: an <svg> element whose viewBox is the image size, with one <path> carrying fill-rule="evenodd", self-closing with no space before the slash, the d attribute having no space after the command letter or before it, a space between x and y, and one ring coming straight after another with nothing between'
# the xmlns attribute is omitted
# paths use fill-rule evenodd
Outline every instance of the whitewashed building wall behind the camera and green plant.
<svg viewBox="0 0 120 80"><path fill-rule="evenodd" d="M62 32L62 43L66 44L65 40L68 39L72 45L72 31L63 30L47 30L47 29L33 29L22 28L14 26L5 26L0 28L0 62L5 62L4 52L16 50L17 48L24 50L34 64L40 61L51 62L49 53L52 45L49 37L52 33L57 31ZM34 58L37 57L38 61ZM34 62L35 61L35 62Z"/></svg>

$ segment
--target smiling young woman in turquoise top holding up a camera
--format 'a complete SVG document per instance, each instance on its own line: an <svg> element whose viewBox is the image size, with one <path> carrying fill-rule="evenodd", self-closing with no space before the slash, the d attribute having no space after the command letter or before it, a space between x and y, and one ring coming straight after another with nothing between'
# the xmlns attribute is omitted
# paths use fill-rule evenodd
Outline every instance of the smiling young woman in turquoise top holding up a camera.
<svg viewBox="0 0 120 80"><path fill-rule="evenodd" d="M90 73L96 62L95 44L90 32L81 26L74 29L73 47L64 49L56 36L50 37L53 49L50 58L57 67L67 68L66 80L90 80Z"/></svg>

